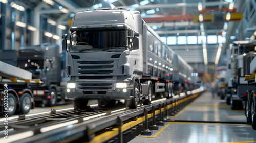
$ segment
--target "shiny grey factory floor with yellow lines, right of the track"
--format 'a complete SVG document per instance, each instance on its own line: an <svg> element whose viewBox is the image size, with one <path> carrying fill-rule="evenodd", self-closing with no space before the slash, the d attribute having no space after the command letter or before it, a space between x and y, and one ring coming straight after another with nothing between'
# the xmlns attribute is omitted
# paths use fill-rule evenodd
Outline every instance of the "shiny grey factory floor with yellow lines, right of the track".
<svg viewBox="0 0 256 143"><path fill-rule="evenodd" d="M256 130L246 124L244 110L231 110L216 94L204 92L165 122L151 136L137 136L130 142L256 142Z"/></svg>

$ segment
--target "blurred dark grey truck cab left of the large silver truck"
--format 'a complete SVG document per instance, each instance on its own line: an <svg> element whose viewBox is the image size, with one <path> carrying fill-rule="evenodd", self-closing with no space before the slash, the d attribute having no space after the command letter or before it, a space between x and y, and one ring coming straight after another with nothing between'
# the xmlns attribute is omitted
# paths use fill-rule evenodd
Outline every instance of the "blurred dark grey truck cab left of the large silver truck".
<svg viewBox="0 0 256 143"><path fill-rule="evenodd" d="M70 79L65 70L65 52L60 44L40 44L20 47L17 53L17 67L30 71L34 79L43 84L33 87L36 102L47 106L66 103L66 86Z"/></svg>

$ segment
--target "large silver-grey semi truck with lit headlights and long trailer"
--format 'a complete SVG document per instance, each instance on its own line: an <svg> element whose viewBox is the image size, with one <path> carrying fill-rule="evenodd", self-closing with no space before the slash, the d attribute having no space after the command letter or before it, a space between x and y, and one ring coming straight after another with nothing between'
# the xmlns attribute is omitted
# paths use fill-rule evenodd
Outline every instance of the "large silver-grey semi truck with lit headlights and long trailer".
<svg viewBox="0 0 256 143"><path fill-rule="evenodd" d="M127 106L137 108L140 103L150 104L155 95L172 96L174 72L182 76L179 83L190 81L186 68L192 68L184 64L183 70L173 71L176 54L146 25L139 11L78 12L70 31L70 39L62 36L62 47L68 51L71 77L67 97L75 109L85 108L90 99L102 107L124 99Z"/></svg>

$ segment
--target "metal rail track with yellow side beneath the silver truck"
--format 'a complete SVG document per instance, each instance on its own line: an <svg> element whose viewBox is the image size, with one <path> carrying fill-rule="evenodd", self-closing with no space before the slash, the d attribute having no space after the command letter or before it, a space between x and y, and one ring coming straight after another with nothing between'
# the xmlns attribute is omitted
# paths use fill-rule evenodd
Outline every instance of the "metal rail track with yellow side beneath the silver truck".
<svg viewBox="0 0 256 143"><path fill-rule="evenodd" d="M200 92L197 92L198 96ZM11 121L8 123L8 142L56 142L59 140L75 141L77 139L91 141L95 134L107 128L119 126L130 120L136 120L138 116L144 115L145 109L161 109L168 105L171 112L179 111L182 107L194 100L195 94L172 99L161 99L151 105L139 106L137 109L96 109L67 111L44 116L35 116L29 119ZM186 99L186 100L185 100ZM167 106L165 106L167 107ZM165 109L164 107L164 109ZM163 113L157 111L157 113ZM167 111L166 111L167 112ZM145 120L145 118L143 118ZM0 131L5 130L1 123ZM119 135L122 133L119 133ZM5 134L1 132L0 142L6 142ZM119 138L122 140L121 136Z"/></svg>

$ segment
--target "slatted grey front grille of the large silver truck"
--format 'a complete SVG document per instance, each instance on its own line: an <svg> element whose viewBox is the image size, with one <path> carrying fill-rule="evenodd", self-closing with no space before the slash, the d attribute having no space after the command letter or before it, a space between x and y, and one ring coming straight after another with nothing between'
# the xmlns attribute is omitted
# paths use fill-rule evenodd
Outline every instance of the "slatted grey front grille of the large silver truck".
<svg viewBox="0 0 256 143"><path fill-rule="evenodd" d="M84 94L95 96L102 95L116 89L117 65L120 54L91 53L90 56L82 56L73 59L74 72L76 76L76 89ZM100 57L100 60L90 61L92 58ZM111 57L111 58L110 58Z"/></svg>

